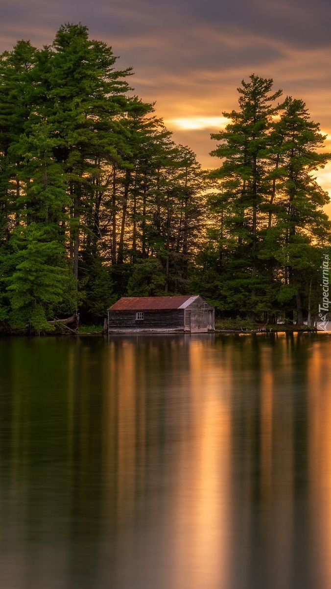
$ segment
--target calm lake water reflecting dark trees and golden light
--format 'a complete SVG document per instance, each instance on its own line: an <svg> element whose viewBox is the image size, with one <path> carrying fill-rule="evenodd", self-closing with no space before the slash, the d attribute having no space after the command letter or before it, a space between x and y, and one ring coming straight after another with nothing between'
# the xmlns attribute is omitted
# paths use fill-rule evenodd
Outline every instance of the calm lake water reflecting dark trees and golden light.
<svg viewBox="0 0 331 589"><path fill-rule="evenodd" d="M330 335L0 348L1 589L330 589Z"/></svg>

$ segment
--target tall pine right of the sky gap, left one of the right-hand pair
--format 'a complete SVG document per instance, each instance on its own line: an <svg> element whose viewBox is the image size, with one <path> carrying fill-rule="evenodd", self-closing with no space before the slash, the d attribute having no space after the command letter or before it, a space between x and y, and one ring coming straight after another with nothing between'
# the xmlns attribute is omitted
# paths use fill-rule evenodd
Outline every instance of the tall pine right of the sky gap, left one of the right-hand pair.
<svg viewBox="0 0 331 589"><path fill-rule="evenodd" d="M250 310L252 317L259 312L266 287L259 247L270 193L270 130L279 110L275 101L282 94L281 90L273 92L272 84L271 78L254 74L249 82L243 80L238 88L240 110L223 112L232 122L224 131L212 134L221 143L211 154L223 160L213 175L222 180L222 203L232 240L236 238L237 261L232 262L233 276L229 279L239 304L245 293L242 310Z"/></svg>

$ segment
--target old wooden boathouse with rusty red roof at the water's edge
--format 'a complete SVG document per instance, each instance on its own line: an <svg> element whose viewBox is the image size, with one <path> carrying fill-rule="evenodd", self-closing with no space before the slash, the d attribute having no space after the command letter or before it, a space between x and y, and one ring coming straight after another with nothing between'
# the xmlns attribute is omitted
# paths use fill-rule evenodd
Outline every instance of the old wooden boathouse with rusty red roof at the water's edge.
<svg viewBox="0 0 331 589"><path fill-rule="evenodd" d="M199 294L122 297L108 309L108 333L206 333L215 310Z"/></svg>

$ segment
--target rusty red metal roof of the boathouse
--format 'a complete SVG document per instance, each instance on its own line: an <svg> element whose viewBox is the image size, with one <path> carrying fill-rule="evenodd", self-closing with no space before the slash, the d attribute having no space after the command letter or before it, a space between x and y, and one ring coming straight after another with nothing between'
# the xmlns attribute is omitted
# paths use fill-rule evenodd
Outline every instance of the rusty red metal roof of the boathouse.
<svg viewBox="0 0 331 589"><path fill-rule="evenodd" d="M157 310L157 309L179 309L186 307L196 299L198 295L191 294L185 296L144 296L144 297L122 297L109 307L108 311L140 311L140 310Z"/></svg>

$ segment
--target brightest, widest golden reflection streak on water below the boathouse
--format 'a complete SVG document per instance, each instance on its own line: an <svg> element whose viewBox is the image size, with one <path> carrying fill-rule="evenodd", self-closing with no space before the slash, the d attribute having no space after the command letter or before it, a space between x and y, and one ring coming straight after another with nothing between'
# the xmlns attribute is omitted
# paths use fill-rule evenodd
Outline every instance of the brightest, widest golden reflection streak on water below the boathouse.
<svg viewBox="0 0 331 589"><path fill-rule="evenodd" d="M229 383L206 365L204 348L198 339L189 348L190 436L180 441L172 512L176 589L229 586Z"/></svg>

